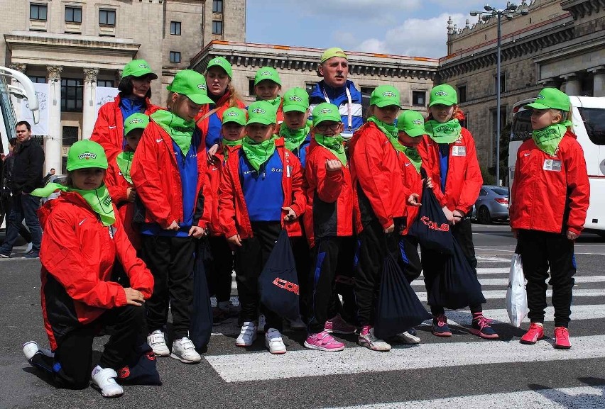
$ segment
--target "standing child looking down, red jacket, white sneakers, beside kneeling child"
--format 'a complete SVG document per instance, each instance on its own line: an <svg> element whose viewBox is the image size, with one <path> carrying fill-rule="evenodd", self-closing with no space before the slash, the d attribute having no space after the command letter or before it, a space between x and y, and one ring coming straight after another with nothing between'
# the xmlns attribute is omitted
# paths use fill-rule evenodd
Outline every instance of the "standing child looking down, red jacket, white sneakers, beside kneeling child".
<svg viewBox="0 0 605 409"><path fill-rule="evenodd" d="M131 170L136 194L145 208L141 255L156 280L146 304L147 342L157 356L170 355L195 364L202 357L189 339L194 239L206 234L211 215L202 218L203 203L212 201L212 194L205 183L205 145L193 118L200 106L211 100L204 77L192 69L178 72L168 91L168 111L151 114ZM172 349L168 349L164 336L169 303Z"/></svg>

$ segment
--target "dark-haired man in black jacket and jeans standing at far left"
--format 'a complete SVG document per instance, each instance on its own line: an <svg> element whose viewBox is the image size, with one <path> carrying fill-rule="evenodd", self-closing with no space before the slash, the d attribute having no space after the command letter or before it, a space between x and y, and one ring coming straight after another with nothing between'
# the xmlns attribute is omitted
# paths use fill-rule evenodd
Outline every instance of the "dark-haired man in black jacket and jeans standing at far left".
<svg viewBox="0 0 605 409"><path fill-rule="evenodd" d="M31 232L32 250L25 257L37 258L42 241L42 229L36 211L40 207L40 198L31 196L33 189L42 186L44 151L36 140L31 138L31 125L26 121L16 125L17 147L13 152L15 162L12 175L12 208L6 228L6 239L0 247L0 257L11 257L11 251L19 235L19 225L26 220Z"/></svg>

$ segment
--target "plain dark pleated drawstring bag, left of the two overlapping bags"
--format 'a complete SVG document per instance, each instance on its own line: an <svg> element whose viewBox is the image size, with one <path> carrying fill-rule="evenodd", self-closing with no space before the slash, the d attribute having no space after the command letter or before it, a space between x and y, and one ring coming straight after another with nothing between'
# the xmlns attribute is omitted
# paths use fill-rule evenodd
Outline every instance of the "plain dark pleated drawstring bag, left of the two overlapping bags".
<svg viewBox="0 0 605 409"><path fill-rule="evenodd" d="M418 299L393 256L388 254L384 259L380 295L376 305L376 337L384 340L430 318L432 315Z"/></svg>

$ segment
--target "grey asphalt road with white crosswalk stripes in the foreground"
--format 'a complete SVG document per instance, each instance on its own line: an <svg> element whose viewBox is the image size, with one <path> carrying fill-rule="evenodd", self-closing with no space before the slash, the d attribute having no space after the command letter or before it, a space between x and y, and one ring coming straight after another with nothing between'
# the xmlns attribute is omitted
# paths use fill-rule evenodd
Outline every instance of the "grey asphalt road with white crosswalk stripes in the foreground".
<svg viewBox="0 0 605 409"><path fill-rule="evenodd" d="M310 351L305 335L285 331L288 353L266 352L263 334L253 347L234 346L234 320L214 327L202 362L187 366L158 359L163 386L126 386L116 400L97 391L57 390L31 368L21 344L47 340L40 316L38 260L0 259L0 408L605 408L605 241L586 235L577 243L577 285L569 351L552 348L552 312L547 339L518 343L508 324L503 293L515 240L506 225L474 225L479 279L501 340L469 334L468 311L448 312L454 336L441 339L418 327L419 346L370 352L354 336L343 352ZM498 284L493 281L496 279ZM414 286L420 298L421 281ZM487 296L489 294L489 296ZM550 298L549 298L550 303ZM104 338L95 348L102 350Z"/></svg>

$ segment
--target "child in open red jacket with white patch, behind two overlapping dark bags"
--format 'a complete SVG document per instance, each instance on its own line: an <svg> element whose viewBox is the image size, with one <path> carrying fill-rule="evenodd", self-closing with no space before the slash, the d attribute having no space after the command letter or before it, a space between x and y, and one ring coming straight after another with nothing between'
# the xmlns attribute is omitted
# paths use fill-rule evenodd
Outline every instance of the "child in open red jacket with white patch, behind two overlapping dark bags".
<svg viewBox="0 0 605 409"><path fill-rule="evenodd" d="M437 200L443 206L443 213L452 223L452 234L475 270L477 260L473 245L470 213L483 179L477 159L475 142L469 130L462 128L459 118L456 90L447 84L437 85L430 92L429 117L425 129L429 138L419 145L423 164L427 162L429 176ZM425 286L431 291L432 282L445 268L447 257L438 252L422 249ZM470 306L473 315L470 331L481 338L497 339L498 334L484 317L483 307ZM441 306L431 306L432 333L437 337L451 337L445 310Z"/></svg>

